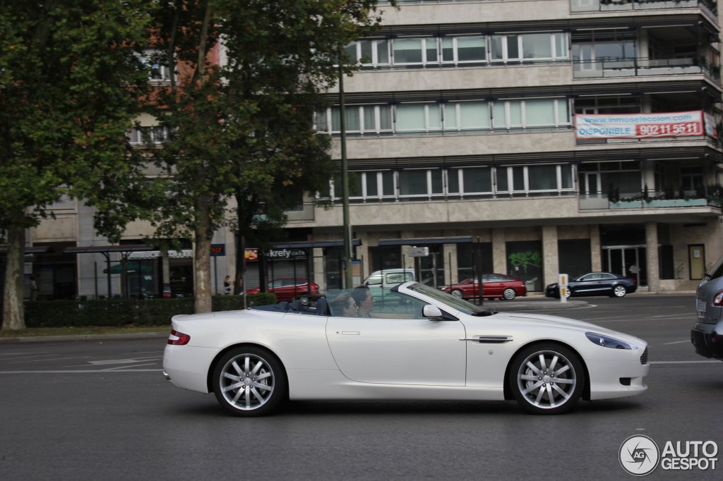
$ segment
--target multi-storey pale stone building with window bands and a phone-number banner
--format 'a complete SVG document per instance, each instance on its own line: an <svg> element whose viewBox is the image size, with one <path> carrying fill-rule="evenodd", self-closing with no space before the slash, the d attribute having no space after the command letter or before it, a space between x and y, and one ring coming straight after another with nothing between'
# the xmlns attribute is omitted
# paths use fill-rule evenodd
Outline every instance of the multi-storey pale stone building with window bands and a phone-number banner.
<svg viewBox="0 0 723 481"><path fill-rule="evenodd" d="M716 1L398 3L379 31L348 46L362 67L344 82L357 277L416 263L430 284L501 272L540 291L562 272L605 270L676 290L722 254ZM317 128L341 158L338 105ZM307 199L289 212L268 279L339 285L338 186L333 208ZM120 265L119 254L82 247L103 240L93 238L90 213L71 204L52 229L31 232L32 245L68 253L53 260L67 276L54 276L73 280L76 293L112 293L105 276L120 276L103 272L103 255ZM143 233L130 226L127 242ZM221 232L215 242L226 252L215 258L223 279L234 239ZM408 256L408 246L430 255ZM260 261L249 255L254 285ZM179 256L163 262L186 278L190 259ZM138 282L148 277L158 291L162 261L145 261L148 272L136 261Z"/></svg>

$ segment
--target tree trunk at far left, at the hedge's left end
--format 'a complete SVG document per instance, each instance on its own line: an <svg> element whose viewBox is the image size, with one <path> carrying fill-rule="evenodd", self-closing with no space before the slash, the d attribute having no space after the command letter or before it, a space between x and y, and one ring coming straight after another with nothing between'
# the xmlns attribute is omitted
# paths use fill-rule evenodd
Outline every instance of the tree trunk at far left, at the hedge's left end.
<svg viewBox="0 0 723 481"><path fill-rule="evenodd" d="M5 292L3 293L2 328L25 329L25 311L22 306L22 280L25 267L25 228L12 223L7 228L7 264Z"/></svg>

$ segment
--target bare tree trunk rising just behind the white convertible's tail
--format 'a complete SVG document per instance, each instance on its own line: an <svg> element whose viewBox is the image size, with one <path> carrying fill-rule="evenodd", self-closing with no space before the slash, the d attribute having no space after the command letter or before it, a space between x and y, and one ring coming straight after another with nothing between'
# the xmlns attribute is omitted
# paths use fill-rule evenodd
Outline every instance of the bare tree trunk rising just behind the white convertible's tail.
<svg viewBox="0 0 723 481"><path fill-rule="evenodd" d="M213 230L210 228L210 200L200 196L196 200L196 246L194 251L195 268L195 312L211 311L211 241Z"/></svg>

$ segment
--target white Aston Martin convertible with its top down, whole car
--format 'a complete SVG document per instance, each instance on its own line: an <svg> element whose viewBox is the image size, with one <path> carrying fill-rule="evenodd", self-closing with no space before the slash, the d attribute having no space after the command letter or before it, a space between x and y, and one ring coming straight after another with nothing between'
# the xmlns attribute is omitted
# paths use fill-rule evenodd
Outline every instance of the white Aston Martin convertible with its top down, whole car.
<svg viewBox="0 0 723 481"><path fill-rule="evenodd" d="M493 313L416 282L356 312L341 293L315 308L174 316L163 371L241 416L284 399L516 399L553 414L647 389L647 343L594 324Z"/></svg>

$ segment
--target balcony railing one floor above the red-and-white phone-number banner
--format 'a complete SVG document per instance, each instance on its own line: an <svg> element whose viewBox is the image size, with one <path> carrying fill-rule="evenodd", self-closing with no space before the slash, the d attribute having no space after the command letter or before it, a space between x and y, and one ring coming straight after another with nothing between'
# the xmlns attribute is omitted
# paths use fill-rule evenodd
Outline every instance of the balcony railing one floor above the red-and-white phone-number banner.
<svg viewBox="0 0 723 481"><path fill-rule="evenodd" d="M573 77L636 77L640 75L706 74L720 81L720 66L685 58L603 58L573 60Z"/></svg>

